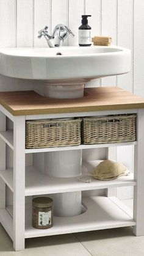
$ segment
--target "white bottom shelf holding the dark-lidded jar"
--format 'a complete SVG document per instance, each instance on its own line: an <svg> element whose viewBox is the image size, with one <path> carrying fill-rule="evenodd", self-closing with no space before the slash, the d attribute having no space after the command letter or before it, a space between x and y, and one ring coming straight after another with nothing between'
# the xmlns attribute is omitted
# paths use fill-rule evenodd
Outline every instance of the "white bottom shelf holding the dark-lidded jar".
<svg viewBox="0 0 144 256"><path fill-rule="evenodd" d="M32 207L31 204L26 205L25 238L112 229L136 224L130 211L115 197L84 197L82 203L87 208L85 213L74 217L54 217L54 226L47 230L32 227ZM12 215L12 207L8 207L7 211Z"/></svg>

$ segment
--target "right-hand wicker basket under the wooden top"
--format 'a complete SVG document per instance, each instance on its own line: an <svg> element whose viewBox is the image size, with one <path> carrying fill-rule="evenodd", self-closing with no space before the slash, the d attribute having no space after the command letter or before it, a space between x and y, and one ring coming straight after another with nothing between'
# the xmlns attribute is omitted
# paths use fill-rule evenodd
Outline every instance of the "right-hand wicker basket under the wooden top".
<svg viewBox="0 0 144 256"><path fill-rule="evenodd" d="M136 115L85 117L82 120L82 143L104 144L136 140Z"/></svg>

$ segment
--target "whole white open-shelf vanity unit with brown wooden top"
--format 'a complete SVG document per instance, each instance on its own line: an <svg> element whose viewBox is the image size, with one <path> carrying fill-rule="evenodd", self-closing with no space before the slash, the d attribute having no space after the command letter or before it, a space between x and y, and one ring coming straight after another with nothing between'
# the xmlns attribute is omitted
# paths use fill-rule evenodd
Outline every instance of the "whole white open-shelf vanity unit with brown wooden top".
<svg viewBox="0 0 144 256"><path fill-rule="evenodd" d="M1 92L1 170L0 170L0 222L13 240L16 251L24 250L25 238L111 229L132 226L135 235L144 235L144 99L118 87L85 89L84 97L54 100L41 97L33 91ZM113 114L137 114L137 140L109 144L78 145L71 147L25 148L26 120L57 119L65 117L88 117ZM5 119L13 122L13 130L5 130ZM13 169L5 167L5 144L13 150ZM77 177L49 177L41 172L38 163L25 167L27 153L77 152L87 148L134 145L134 175L111 181L92 179L91 183L80 183ZM108 154L109 157L109 154ZM96 166L98 161L84 163ZM13 193L13 205L5 205L5 186ZM134 186L134 213L120 200L112 197L111 188ZM54 194L78 193L105 189L105 196L82 197L81 214L54 216L54 226L47 230L32 227L32 197ZM26 200L27 199L29 200ZM62 197L61 197L62 199ZM60 200L61 200L60 199ZM66 206L65 206L66 207Z"/></svg>

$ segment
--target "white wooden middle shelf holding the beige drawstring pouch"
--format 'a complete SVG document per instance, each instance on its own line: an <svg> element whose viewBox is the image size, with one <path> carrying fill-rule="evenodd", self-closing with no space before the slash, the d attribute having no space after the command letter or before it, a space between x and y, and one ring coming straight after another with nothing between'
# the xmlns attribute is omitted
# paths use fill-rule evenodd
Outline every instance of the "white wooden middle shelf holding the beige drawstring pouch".
<svg viewBox="0 0 144 256"><path fill-rule="evenodd" d="M100 161L83 162L83 169L88 173L92 172L93 167L97 166ZM0 177L13 191L13 169L1 170ZM88 177L90 178L90 177ZM41 174L34 166L26 167L26 189L25 196L34 196L42 194L54 194L58 192L86 191L93 189L106 189L121 186L135 186L134 175L123 176L116 180L99 181L92 178L90 183L81 183L78 177L74 178L54 178Z"/></svg>

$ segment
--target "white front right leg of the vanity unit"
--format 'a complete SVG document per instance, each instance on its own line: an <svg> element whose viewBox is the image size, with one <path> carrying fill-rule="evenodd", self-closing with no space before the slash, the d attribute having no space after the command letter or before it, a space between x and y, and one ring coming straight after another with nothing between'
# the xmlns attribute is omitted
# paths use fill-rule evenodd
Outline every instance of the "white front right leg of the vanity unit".
<svg viewBox="0 0 144 256"><path fill-rule="evenodd" d="M137 225L134 234L144 235L144 109L139 109L137 117L137 145L134 153L134 178L137 186L134 186L134 219Z"/></svg>

